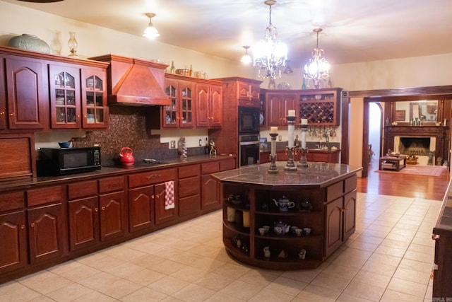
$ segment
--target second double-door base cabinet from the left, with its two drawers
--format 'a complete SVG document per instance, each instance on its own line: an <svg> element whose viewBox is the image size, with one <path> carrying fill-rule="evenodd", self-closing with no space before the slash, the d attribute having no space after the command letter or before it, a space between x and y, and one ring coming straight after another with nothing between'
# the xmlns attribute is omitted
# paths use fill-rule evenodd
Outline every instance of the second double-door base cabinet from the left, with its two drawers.
<svg viewBox="0 0 452 302"><path fill-rule="evenodd" d="M126 233L124 177L71 183L68 198L71 250Z"/></svg>

